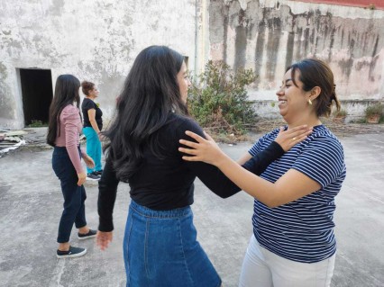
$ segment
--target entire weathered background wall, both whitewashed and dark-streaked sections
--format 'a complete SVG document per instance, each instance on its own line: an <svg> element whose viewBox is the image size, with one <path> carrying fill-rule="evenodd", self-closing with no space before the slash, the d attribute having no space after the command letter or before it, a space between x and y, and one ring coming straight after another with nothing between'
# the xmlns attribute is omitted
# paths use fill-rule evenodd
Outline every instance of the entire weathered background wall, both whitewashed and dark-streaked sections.
<svg viewBox="0 0 384 287"><path fill-rule="evenodd" d="M359 101L384 97L382 27L384 10L288 0L0 1L0 127L23 128L18 68L29 67L50 69L53 85L64 73L96 83L108 120L133 59L152 44L186 55L195 75L210 58L253 68L251 99L267 102L288 64L322 58L361 114Z"/></svg>

